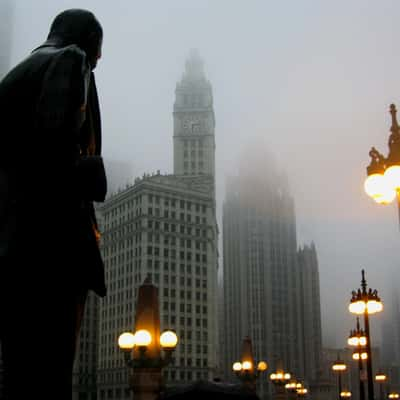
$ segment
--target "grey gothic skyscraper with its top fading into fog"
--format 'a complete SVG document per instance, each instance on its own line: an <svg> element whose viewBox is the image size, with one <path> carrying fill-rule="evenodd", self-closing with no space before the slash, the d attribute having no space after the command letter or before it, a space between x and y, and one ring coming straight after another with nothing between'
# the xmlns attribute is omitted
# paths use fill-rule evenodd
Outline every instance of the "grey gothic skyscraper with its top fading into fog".
<svg viewBox="0 0 400 400"><path fill-rule="evenodd" d="M310 384L320 369L321 350L316 251L313 245L297 250L287 181L272 163L260 174L251 166L254 158L257 154L230 179L223 204L224 378L235 379L232 364L250 336L256 360L266 360L271 372L281 364ZM259 394L267 397L268 379L259 385Z"/></svg>

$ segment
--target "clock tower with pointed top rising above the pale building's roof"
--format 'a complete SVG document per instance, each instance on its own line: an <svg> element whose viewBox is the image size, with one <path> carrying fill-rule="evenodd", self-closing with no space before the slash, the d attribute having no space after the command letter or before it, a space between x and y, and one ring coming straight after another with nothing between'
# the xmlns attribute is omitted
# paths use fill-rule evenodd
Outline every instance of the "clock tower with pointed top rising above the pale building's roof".
<svg viewBox="0 0 400 400"><path fill-rule="evenodd" d="M212 88L196 50L190 52L174 104L174 174L215 180Z"/></svg>

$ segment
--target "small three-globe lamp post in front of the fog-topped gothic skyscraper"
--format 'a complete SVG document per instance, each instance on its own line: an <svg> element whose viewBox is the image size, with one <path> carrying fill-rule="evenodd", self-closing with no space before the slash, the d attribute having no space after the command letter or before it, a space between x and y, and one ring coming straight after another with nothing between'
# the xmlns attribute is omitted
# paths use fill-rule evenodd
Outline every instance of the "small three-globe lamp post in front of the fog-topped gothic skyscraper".
<svg viewBox="0 0 400 400"><path fill-rule="evenodd" d="M243 339L240 361L236 361L232 365L233 372L244 386L255 392L257 378L260 376L260 373L266 371L267 368L268 365L265 361L259 361L257 366L255 366L251 339L246 336Z"/></svg>

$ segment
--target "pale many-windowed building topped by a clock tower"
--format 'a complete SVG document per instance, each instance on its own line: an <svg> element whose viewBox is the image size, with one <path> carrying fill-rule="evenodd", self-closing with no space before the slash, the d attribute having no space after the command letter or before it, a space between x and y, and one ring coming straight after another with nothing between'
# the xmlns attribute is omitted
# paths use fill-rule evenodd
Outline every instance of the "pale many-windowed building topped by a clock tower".
<svg viewBox="0 0 400 400"><path fill-rule="evenodd" d="M100 306L98 398L130 399L118 335L134 329L139 286L158 287L161 329L179 337L167 383L212 379L217 366L217 243L212 89L192 52L177 84L174 174L145 174L99 209L108 295Z"/></svg>

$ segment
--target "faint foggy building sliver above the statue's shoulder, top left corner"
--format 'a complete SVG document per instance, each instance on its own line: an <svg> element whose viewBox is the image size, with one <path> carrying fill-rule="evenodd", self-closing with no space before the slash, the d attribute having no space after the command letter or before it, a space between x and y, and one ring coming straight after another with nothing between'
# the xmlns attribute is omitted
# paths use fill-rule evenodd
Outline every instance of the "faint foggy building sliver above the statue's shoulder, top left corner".
<svg viewBox="0 0 400 400"><path fill-rule="evenodd" d="M11 67L13 7L12 0L2 0L0 2L0 79L4 77Z"/></svg>

